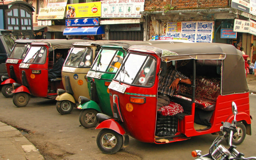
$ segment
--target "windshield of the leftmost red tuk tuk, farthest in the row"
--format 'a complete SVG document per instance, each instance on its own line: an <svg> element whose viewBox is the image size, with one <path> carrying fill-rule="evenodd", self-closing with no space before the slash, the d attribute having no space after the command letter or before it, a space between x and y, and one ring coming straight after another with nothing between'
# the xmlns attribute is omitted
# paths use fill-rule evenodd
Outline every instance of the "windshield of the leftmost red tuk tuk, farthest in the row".
<svg viewBox="0 0 256 160"><path fill-rule="evenodd" d="M23 59L28 51L29 44L20 44L17 43L12 49L12 52L9 56L9 58L14 58L14 59Z"/></svg>

